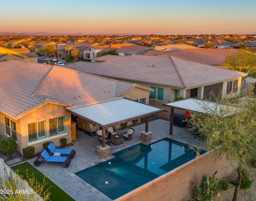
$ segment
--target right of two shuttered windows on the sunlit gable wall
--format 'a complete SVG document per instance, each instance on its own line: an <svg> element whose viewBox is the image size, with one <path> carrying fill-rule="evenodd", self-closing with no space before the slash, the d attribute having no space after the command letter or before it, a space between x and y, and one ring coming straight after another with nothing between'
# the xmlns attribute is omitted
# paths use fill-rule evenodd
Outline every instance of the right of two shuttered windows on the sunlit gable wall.
<svg viewBox="0 0 256 201"><path fill-rule="evenodd" d="M55 136L66 132L65 116L49 119L50 136Z"/></svg>

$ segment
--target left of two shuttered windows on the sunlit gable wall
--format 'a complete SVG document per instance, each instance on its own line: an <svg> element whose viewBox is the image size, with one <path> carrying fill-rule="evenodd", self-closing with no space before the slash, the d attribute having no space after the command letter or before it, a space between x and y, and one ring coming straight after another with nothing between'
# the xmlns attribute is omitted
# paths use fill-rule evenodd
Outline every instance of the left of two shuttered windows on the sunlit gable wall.
<svg viewBox="0 0 256 201"><path fill-rule="evenodd" d="M45 120L28 124L28 142L46 138Z"/></svg>

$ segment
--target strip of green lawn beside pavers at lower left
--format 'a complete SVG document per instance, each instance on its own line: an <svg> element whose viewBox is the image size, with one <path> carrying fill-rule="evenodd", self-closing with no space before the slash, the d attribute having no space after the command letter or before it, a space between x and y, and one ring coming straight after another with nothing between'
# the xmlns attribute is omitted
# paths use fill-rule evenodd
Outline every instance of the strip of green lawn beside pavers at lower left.
<svg viewBox="0 0 256 201"><path fill-rule="evenodd" d="M24 179L26 179L26 169L28 169L28 175L31 175L34 173L34 176L37 178L40 183L42 183L44 179L44 175L38 171L36 168L34 168L32 165L30 165L28 162L16 165L11 167L13 171L19 170L19 175L23 175ZM70 197L67 193L62 191L56 184L54 184L50 179L46 177L45 179L46 183L48 185L46 186L46 189L50 187L49 192L51 201L74 201L72 197Z"/></svg>

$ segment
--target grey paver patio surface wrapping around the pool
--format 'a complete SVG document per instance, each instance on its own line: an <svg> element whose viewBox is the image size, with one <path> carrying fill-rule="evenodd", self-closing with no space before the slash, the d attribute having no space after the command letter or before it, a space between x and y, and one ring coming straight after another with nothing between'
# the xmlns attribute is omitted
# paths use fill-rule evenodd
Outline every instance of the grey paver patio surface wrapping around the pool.
<svg viewBox="0 0 256 201"><path fill-rule="evenodd" d="M149 131L152 132L152 142L169 137L192 146L200 146L202 140L195 139L187 128L179 128L173 126L173 135L169 135L170 122L167 120L154 120L149 122ZM130 147L135 144L139 144L140 132L145 130L145 124L132 127L135 132L132 135L131 141L125 141L124 144L115 146L110 144L110 152L117 152L124 148ZM126 131L127 129L123 130ZM123 131L118 131L118 134L122 134ZM80 177L76 176L75 173L86 169L88 167L94 166L106 160L113 158L102 159L97 155L97 146L100 143L97 137L90 137L87 134L77 130L76 141L73 141L70 149L76 151L76 155L68 168L63 168L58 164L47 164L35 167L40 172L42 172L46 177L58 185L63 191L70 195L76 201L111 201L109 197L92 187L86 181L82 180ZM34 159L28 160L30 164L33 165Z"/></svg>

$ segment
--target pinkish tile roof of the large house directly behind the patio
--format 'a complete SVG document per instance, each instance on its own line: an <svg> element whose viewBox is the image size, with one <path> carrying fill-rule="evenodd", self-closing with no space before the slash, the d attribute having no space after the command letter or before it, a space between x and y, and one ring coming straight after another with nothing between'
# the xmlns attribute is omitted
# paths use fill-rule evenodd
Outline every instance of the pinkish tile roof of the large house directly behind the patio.
<svg viewBox="0 0 256 201"><path fill-rule="evenodd" d="M103 62L77 62L65 65L65 67L114 79L181 88L205 85L246 75L246 73L177 57L106 55L94 60Z"/></svg>

